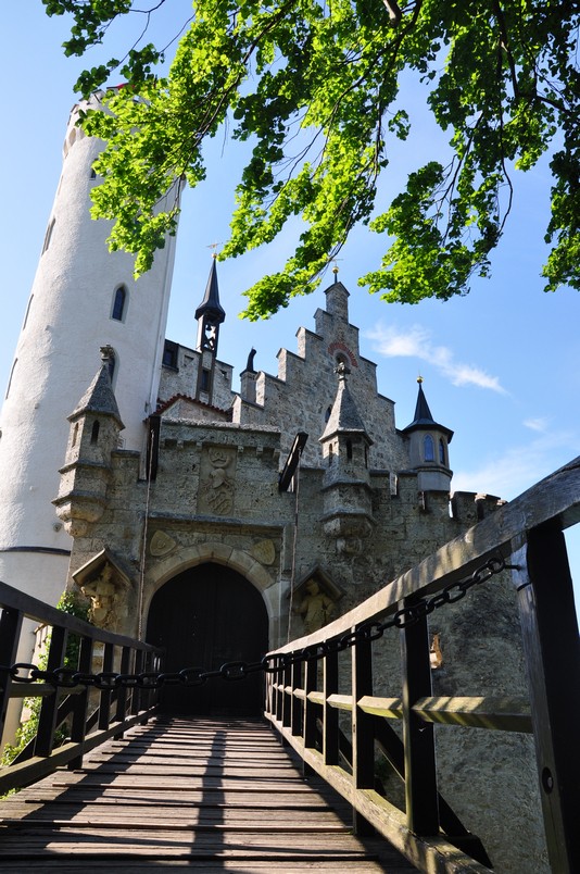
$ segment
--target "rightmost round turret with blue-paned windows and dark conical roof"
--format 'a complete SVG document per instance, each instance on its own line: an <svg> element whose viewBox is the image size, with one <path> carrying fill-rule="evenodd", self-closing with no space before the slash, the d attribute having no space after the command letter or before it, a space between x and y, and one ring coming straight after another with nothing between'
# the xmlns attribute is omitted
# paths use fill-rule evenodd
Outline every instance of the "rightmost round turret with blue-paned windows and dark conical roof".
<svg viewBox="0 0 580 874"><path fill-rule="evenodd" d="M453 432L434 421L423 390L423 377L413 422L403 428L408 436L411 466L418 475L419 491L449 491L452 471L449 467L449 445Z"/></svg>

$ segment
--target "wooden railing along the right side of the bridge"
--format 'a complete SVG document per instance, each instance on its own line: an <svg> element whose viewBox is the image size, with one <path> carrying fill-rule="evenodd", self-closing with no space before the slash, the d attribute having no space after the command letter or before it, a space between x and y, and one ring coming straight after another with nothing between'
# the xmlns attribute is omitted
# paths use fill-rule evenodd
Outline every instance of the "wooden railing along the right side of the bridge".
<svg viewBox="0 0 580 874"><path fill-rule="evenodd" d="M489 863L438 792L433 724L443 723L533 732L551 867L558 874L580 871L580 644L563 535L578 521L580 458L341 619L276 651L286 664L267 676L267 719L305 769L349 800L358 828L374 826L419 870L487 871ZM496 555L517 567L509 573L519 603L529 702L433 698L428 617L421 611L414 623L400 614L402 698L376 696L373 638L379 626L465 580ZM341 694L340 641L349 638L356 642L349 647L348 694ZM268 657L273 669L281 665L275 654ZM344 734L341 713L349 716ZM402 721L402 740L391 720ZM377 746L404 781L404 812L377 790Z"/></svg>

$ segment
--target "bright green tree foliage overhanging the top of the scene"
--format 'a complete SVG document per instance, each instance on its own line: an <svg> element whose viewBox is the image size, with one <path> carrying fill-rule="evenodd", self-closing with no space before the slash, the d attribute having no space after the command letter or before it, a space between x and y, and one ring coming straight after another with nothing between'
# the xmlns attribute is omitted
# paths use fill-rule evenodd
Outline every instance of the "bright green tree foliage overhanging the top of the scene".
<svg viewBox="0 0 580 874"><path fill-rule="evenodd" d="M73 14L65 51L83 54L115 17L147 25L164 0L149 10L131 0L42 2L49 15ZM360 222L386 240L362 285L389 301L447 299L488 275L510 176L547 153L545 288L580 288L579 26L576 0L194 0L166 76L155 76L163 50L136 43L77 83L87 97L119 67L128 85L105 90L106 112L83 118L106 141L93 215L114 218L111 247L135 252L137 273L148 270L178 212L177 202L157 204L176 177L204 178L204 143L225 128L251 157L220 258L269 242L293 216L304 221L283 270L247 292L250 319L313 290ZM380 211L389 145L405 140L413 121L400 98L407 72L449 132L449 161L426 160Z"/></svg>

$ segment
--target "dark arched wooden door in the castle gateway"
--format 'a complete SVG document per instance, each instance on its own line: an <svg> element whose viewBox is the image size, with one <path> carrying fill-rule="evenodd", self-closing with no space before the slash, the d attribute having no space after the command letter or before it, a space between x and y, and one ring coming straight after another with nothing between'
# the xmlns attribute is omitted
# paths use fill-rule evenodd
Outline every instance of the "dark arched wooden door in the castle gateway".
<svg viewBox="0 0 580 874"><path fill-rule="evenodd" d="M268 649L268 617L261 594L241 574L219 564L201 564L169 579L149 609L147 639L165 647L166 671L200 666L214 671L226 662L259 661ZM264 677L217 677L203 686L167 686L161 706L167 713L256 715Z"/></svg>

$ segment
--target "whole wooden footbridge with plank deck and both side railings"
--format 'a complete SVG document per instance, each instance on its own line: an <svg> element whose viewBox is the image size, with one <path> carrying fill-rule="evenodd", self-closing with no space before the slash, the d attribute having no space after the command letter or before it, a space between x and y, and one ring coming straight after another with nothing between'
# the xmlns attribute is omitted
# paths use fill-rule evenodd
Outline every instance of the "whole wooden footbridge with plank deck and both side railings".
<svg viewBox="0 0 580 874"><path fill-rule="evenodd" d="M0 792L27 787L0 809L2 870L490 871L439 792L439 723L533 734L550 864L579 872L580 642L563 535L579 520L576 459L320 632L219 672L163 674L153 647L0 584L2 720L12 698L42 698L35 739L0 771ZM529 700L433 697L429 615L499 572L517 590ZM15 664L25 617L52 627L41 671ZM401 699L376 691L386 633L402 638ZM63 667L67 637L79 642L73 667ZM159 715L164 684L259 671L264 722ZM55 747L63 723L70 739ZM403 802L384 789L378 752Z"/></svg>

